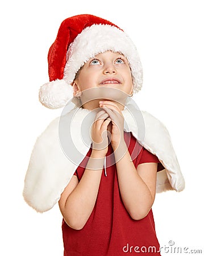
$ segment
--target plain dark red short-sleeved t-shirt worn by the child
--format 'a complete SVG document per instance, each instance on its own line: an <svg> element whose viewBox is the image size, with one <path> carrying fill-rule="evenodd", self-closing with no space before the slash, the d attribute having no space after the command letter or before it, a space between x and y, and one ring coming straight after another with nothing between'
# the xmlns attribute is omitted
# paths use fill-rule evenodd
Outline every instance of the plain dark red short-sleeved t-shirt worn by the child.
<svg viewBox="0 0 204 256"><path fill-rule="evenodd" d="M124 132L126 143L128 138L128 151L136 156L132 156L135 168L141 163L159 163L157 171L164 168L157 156L141 147L131 133ZM86 156L90 154L91 148ZM111 166L115 159L110 155L114 155L111 143L106 154L107 176L103 170L97 201L84 228L74 230L63 220L64 256L160 255L152 209L141 220L130 217L120 196L116 165ZM82 166L87 162L85 158ZM74 175L79 181L84 171L84 167L77 168Z"/></svg>

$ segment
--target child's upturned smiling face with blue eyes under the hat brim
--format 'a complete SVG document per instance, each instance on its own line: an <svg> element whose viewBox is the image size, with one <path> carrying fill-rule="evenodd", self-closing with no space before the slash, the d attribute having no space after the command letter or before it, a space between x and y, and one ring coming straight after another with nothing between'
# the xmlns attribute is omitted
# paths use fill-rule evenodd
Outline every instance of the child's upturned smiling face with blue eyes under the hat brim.
<svg viewBox="0 0 204 256"><path fill-rule="evenodd" d="M128 61L118 52L106 51L88 60L73 82L74 96L86 89L104 86L119 89L127 96L132 92Z"/></svg>

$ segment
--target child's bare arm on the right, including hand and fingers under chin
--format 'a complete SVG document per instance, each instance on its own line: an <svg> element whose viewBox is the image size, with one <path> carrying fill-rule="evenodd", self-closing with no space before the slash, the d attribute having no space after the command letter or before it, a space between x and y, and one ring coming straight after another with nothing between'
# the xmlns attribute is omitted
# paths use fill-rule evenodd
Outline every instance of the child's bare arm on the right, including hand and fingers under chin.
<svg viewBox="0 0 204 256"><path fill-rule="evenodd" d="M124 206L134 220L140 220L147 216L155 200L157 163L140 164L135 169L124 141L124 117L120 108L115 102L100 103L112 121L111 144Z"/></svg>

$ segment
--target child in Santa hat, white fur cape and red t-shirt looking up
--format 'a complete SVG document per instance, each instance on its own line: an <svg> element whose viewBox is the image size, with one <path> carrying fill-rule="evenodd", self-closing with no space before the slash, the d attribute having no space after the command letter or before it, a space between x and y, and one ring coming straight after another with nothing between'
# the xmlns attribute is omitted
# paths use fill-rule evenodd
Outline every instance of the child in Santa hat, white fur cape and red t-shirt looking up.
<svg viewBox="0 0 204 256"><path fill-rule="evenodd" d="M76 106L36 141L24 199L38 212L59 202L64 255L160 255L155 193L182 191L184 178L168 131L131 99L142 85L134 44L113 23L77 15L61 24L48 64L40 102Z"/></svg>

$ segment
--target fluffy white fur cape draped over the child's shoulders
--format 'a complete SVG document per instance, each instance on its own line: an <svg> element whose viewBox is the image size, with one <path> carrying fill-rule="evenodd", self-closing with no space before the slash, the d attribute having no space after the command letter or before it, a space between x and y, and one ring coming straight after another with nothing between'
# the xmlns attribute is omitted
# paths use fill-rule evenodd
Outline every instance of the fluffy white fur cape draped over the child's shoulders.
<svg viewBox="0 0 204 256"><path fill-rule="evenodd" d="M182 191L185 181L168 130L158 119L147 112L140 112L131 102L126 106L128 108L122 110L124 131L131 131L165 167L157 172L156 192ZM59 201L90 149L89 130L94 117L94 112L76 107L54 119L36 140L23 189L24 200L36 211L45 212Z"/></svg>

